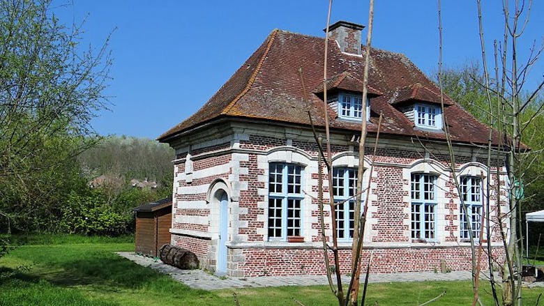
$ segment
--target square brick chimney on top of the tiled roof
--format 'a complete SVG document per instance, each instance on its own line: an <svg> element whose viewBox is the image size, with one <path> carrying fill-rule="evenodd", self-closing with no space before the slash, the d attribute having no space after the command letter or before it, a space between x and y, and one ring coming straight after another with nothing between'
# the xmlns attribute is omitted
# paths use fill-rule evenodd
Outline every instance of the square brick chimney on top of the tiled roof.
<svg viewBox="0 0 544 306"><path fill-rule="evenodd" d="M345 21L335 22L328 26L328 38L336 40L342 52L361 54L362 29L365 29L365 26L361 24Z"/></svg>

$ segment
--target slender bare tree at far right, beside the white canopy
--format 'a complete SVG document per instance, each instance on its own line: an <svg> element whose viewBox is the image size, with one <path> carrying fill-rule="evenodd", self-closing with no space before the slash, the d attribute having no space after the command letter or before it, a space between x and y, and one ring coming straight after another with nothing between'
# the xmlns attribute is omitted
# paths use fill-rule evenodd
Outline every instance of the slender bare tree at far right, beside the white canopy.
<svg viewBox="0 0 544 306"><path fill-rule="evenodd" d="M520 64L518 55L517 40L524 33L531 13L532 1L503 1L502 12L504 14L504 37L499 43L497 49L497 40L494 40L495 57L495 82L492 88L490 73L487 68L485 56L485 36L483 34L483 15L481 10L481 0L478 3L478 23L481 38L482 62L484 67L486 98L490 109L499 109L498 114L490 113L494 126L504 135L504 144L501 151L506 153L506 174L508 176L508 185L505 186L508 195L509 211L506 215L499 215L499 224L506 222L509 224L509 231L501 228L501 236L504 238L505 259L501 267L502 272L502 305L522 305L522 252L523 237L520 231L522 220L522 203L524 186L524 174L534 165L538 154L541 153L538 148L533 151L527 150L522 142L523 138L531 137L524 135L526 128L533 123L535 118L542 116L542 105L539 105L536 112L527 120L523 120L524 111L534 105L538 93L544 86L541 81L536 89L529 95L523 95L522 88L527 79L528 72L534 63L538 60L544 45L536 47L531 46L529 58ZM513 4L513 6L511 6ZM501 56L499 56L501 52ZM499 70L501 73L499 74ZM499 105L499 107L494 107ZM525 184L530 182L525 182ZM498 298L495 299L498 304Z"/></svg>

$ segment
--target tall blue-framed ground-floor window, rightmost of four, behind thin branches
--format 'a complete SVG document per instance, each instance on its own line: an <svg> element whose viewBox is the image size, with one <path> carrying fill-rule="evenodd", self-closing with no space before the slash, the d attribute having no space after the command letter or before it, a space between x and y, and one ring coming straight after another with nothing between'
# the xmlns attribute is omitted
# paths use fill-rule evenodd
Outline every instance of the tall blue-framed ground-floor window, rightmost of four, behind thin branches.
<svg viewBox="0 0 544 306"><path fill-rule="evenodd" d="M460 238L470 239L469 222L472 237L478 240L482 222L482 181L476 176L462 176L460 181L461 199L467 208L467 217L463 212L463 206L459 209Z"/></svg>

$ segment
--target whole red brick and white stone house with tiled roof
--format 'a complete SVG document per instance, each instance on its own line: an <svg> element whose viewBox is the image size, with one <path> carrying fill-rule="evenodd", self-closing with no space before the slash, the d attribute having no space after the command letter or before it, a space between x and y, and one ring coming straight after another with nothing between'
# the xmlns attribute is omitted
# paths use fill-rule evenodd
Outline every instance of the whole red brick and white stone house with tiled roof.
<svg viewBox="0 0 544 306"><path fill-rule="evenodd" d="M381 112L365 199L364 256L373 254L371 273L433 270L441 263L469 269L467 223L480 227L483 187L488 180L497 183L497 176L485 177L489 129L447 96L442 114L437 86L404 55L381 49L372 49L370 98L363 103L362 29L337 22L330 32L326 111L335 199L353 193L361 120L368 121L364 164L370 168ZM273 31L199 111L158 138L176 150L172 244L195 252L202 268L239 277L325 273L318 204L305 194L317 197L320 165L308 112L324 134L324 42ZM370 110L368 118L361 118L362 107ZM448 170L444 118L468 220ZM499 178L504 183L504 174ZM496 212L496 195L490 205ZM353 207L353 200L338 206L342 273L350 268ZM330 237L327 208L325 217ZM501 257L496 230L492 237L494 254Z"/></svg>

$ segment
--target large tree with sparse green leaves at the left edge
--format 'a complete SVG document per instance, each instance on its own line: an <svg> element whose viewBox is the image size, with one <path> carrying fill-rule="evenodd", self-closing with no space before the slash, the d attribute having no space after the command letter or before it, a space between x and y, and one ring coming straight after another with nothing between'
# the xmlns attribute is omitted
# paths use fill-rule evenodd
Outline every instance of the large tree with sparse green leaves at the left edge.
<svg viewBox="0 0 544 306"><path fill-rule="evenodd" d="M54 224L81 186L73 157L96 142L90 121L107 104L107 43L80 51L80 26L50 4L0 0L0 213L24 229Z"/></svg>

